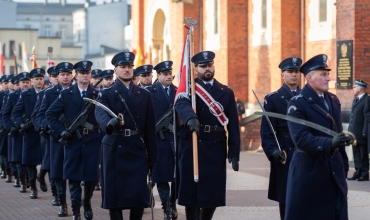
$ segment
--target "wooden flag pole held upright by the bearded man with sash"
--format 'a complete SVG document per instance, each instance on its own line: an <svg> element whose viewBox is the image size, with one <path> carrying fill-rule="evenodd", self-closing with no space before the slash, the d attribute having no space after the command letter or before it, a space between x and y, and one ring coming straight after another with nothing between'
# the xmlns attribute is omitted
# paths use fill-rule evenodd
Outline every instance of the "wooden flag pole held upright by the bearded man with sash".
<svg viewBox="0 0 370 220"><path fill-rule="evenodd" d="M192 55L194 54L194 28L197 25L198 21L192 18L185 18L185 23L189 27L190 31L190 47L189 48L189 61ZM197 112L196 109L196 95L195 95L195 78L194 78L194 68L191 67L191 64L189 63L190 68L190 90L191 90L191 106L194 110L194 112ZM198 136L197 133L194 131L192 133L192 140L193 140L193 171L194 171L194 182L199 181L199 164L198 164Z"/></svg>

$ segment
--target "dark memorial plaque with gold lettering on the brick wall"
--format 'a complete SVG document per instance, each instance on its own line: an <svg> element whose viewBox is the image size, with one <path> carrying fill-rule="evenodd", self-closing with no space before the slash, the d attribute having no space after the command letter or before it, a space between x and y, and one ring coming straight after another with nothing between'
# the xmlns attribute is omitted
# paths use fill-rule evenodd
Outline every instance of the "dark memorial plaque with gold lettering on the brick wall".
<svg viewBox="0 0 370 220"><path fill-rule="evenodd" d="M353 41L337 41L337 89L353 87Z"/></svg>

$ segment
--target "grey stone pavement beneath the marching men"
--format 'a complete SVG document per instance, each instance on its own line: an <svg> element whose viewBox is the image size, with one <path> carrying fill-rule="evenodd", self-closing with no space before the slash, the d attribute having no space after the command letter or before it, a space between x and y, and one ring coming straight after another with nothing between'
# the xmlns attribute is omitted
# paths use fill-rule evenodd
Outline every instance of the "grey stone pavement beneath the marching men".
<svg viewBox="0 0 370 220"><path fill-rule="evenodd" d="M267 199L269 162L263 153L242 152L240 171L234 172L230 164L227 169L227 192L226 205L217 208L214 215L215 220L228 219L279 219L278 204ZM354 170L351 168L349 176ZM200 176L200 181L202 177ZM349 193L349 219L369 219L370 214L370 182L348 182ZM0 220L2 219L71 219L71 208L69 195L69 216L57 217L59 207L51 206L51 193L39 190L39 199L31 200L29 190L27 193L19 193L19 188L13 184L0 180ZM313 192L314 193L314 192ZM154 188L156 205L154 208L154 219L163 219L160 200L157 189ZM100 208L101 194L94 192L92 207L94 219L108 220L108 210ZM179 220L185 220L184 207L178 206ZM81 208L81 213L83 209ZM84 219L82 217L82 219ZM124 211L124 219L128 219L128 211ZM145 220L151 219L150 209L145 209Z"/></svg>

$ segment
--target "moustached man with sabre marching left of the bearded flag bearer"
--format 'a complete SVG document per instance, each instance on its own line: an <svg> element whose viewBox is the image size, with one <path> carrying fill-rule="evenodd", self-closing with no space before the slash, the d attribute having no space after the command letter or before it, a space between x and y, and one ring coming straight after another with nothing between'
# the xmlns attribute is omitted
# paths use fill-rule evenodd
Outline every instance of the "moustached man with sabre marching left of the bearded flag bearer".
<svg viewBox="0 0 370 220"><path fill-rule="evenodd" d="M122 220L122 209L130 209L130 219L142 219L149 207L147 169L157 162L157 142L153 101L150 93L132 82L135 55L116 54L112 59L117 80L101 91L98 101L115 114L124 115L124 125L96 107L99 126L106 132L102 140L102 208L111 220Z"/></svg>

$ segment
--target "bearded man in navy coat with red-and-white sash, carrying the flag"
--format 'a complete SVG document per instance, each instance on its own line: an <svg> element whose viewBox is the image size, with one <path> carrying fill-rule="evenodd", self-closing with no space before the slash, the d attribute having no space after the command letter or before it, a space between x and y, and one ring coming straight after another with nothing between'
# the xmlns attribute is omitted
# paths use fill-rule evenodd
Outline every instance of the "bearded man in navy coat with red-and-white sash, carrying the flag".
<svg viewBox="0 0 370 220"><path fill-rule="evenodd" d="M213 104L205 103L199 96L196 98L196 112L192 110L190 99L179 98L175 109L183 125L177 131L180 136L178 150L179 184L178 203L185 206L186 218L212 219L218 206L225 206L226 193L226 158L232 162L235 171L239 169L240 129L234 92L214 79L215 54L203 51L191 58L195 65L198 86L209 94L209 99L222 105L224 117L228 118L228 138L224 126L210 112ZM209 100L208 99L208 100ZM213 102L215 103L215 102ZM221 106L218 107L221 109ZM222 117L222 118L224 118ZM221 120L223 124L226 121ZM194 182L192 132L198 135L199 179ZM228 152L227 152L228 150Z"/></svg>

